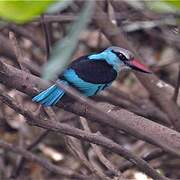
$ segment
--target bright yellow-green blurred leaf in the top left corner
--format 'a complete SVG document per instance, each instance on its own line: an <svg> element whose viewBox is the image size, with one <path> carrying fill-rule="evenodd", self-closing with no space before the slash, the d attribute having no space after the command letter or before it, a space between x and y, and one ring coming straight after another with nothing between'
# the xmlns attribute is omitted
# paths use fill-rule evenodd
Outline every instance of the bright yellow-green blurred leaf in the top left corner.
<svg viewBox="0 0 180 180"><path fill-rule="evenodd" d="M0 16L15 23L25 23L47 10L54 0L0 1Z"/></svg>

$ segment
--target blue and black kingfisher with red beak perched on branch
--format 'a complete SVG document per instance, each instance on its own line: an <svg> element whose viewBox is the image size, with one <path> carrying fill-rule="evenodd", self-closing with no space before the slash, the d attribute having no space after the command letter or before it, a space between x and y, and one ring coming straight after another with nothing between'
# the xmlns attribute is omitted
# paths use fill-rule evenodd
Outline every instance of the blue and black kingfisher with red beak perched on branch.
<svg viewBox="0 0 180 180"><path fill-rule="evenodd" d="M99 53L85 55L72 61L58 75L57 81L72 86L83 95L90 97L111 86L123 69L151 73L132 52L111 46ZM64 95L65 91L54 84L33 97L32 101L44 107L55 106Z"/></svg>

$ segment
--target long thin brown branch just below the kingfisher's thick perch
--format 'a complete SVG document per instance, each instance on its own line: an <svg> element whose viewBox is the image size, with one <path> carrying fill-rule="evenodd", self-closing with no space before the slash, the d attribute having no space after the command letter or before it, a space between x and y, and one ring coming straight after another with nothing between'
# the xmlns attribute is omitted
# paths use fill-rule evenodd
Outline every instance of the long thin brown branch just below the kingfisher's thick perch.
<svg viewBox="0 0 180 180"><path fill-rule="evenodd" d="M28 120L27 122L31 125L42 127L44 129L48 129L51 131L59 132L62 134L70 135L91 143L95 143L98 145L101 145L112 152L115 152L122 156L123 158L127 159L128 161L131 161L133 164L136 164L136 166L142 170L144 173L149 175L152 178L155 179L168 179L164 176L161 176L159 173L157 173L154 169L152 169L144 160L138 158L136 155L133 155L131 152L126 150L125 148L121 147L117 143L113 142L112 140L100 136L97 134L92 134L88 133L82 130L79 130L77 128L70 127L67 124L64 123L59 123L57 121L49 121L45 120L42 117L36 117L32 114L32 112L25 110L21 105L19 105L13 98L8 96L6 93L3 91L0 92L1 100L6 103L9 107L14 109L16 112L20 113L26 119Z"/></svg>

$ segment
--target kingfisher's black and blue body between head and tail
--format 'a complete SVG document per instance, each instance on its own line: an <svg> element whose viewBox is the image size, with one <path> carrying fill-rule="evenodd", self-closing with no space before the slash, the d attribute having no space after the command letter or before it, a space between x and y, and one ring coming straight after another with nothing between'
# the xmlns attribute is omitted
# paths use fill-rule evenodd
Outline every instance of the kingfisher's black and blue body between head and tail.
<svg viewBox="0 0 180 180"><path fill-rule="evenodd" d="M81 57L72 62L60 79L67 81L86 96L93 96L110 86L117 72L105 60Z"/></svg>

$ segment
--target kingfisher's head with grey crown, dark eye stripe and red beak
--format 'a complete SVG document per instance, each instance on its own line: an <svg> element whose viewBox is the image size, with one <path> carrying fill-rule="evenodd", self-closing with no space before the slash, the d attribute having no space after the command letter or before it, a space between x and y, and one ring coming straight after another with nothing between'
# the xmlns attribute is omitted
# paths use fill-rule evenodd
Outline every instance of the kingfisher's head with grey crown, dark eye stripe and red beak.
<svg viewBox="0 0 180 180"><path fill-rule="evenodd" d="M145 65L140 63L134 55L126 49L112 46L104 50L102 54L106 57L106 61L117 71L128 68L144 73L151 73Z"/></svg>

